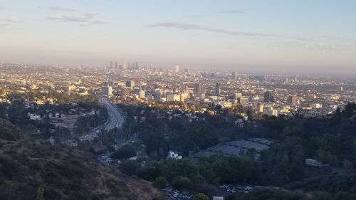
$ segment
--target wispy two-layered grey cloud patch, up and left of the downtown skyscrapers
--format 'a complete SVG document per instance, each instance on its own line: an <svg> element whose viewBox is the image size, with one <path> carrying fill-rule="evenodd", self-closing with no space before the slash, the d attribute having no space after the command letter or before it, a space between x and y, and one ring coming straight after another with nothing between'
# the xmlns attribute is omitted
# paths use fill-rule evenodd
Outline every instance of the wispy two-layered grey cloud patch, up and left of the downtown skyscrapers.
<svg viewBox="0 0 356 200"><path fill-rule="evenodd" d="M98 19L98 14L78 11L77 9L65 8L60 6L48 7L51 11L66 12L61 16L46 16L46 20L60 21L63 23L80 23L81 26L104 24L106 21Z"/></svg>

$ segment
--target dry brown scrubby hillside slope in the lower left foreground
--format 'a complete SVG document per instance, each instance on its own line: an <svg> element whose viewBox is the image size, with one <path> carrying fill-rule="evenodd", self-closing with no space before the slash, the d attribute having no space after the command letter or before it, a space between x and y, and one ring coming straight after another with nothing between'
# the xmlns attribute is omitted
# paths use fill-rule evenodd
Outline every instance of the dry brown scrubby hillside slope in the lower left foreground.
<svg viewBox="0 0 356 200"><path fill-rule="evenodd" d="M6 126L4 126L6 125ZM6 199L155 199L149 182L127 177L87 154L47 144L15 141L16 127L0 124L0 196ZM13 140L13 141L10 141Z"/></svg>

